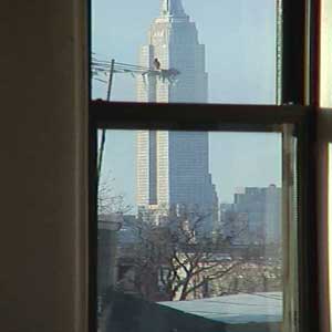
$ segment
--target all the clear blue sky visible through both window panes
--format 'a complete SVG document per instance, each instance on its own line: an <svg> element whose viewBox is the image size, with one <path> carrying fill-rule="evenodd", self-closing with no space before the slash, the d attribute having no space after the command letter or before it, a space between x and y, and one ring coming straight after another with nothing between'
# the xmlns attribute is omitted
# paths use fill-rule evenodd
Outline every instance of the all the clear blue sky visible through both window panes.
<svg viewBox="0 0 332 332"><path fill-rule="evenodd" d="M92 46L98 58L136 64L139 46L159 13L160 0L94 0ZM183 0L206 45L209 102L274 103L274 0ZM94 97L106 89L94 82ZM116 75L112 98L135 101L135 80ZM210 170L220 200L236 187L281 184L281 145L277 134L210 135ZM135 199L135 133L107 135L105 170L114 188Z"/></svg>

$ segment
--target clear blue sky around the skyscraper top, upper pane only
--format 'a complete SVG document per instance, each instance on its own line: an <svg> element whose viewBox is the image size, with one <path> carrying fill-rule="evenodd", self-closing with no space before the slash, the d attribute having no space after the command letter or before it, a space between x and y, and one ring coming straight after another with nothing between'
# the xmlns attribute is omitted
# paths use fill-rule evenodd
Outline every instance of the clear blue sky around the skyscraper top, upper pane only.
<svg viewBox="0 0 332 332"><path fill-rule="evenodd" d="M276 2L266 0L183 0L206 44L211 103L276 103ZM116 14L114 9L116 9ZM160 0L93 1L92 50L105 60L138 63L137 50L159 13ZM124 21L123 18L126 18ZM116 75L114 101L136 101L135 80ZM93 82L94 97L105 97L105 86Z"/></svg>

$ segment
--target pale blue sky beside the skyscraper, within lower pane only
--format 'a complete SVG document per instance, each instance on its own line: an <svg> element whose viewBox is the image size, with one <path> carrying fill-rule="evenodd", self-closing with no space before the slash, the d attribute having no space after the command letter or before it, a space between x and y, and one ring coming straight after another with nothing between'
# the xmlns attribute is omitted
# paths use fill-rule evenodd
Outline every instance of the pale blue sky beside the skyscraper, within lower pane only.
<svg viewBox="0 0 332 332"><path fill-rule="evenodd" d="M124 195L133 209L136 208L136 134L129 129L107 131L102 169L114 194ZM273 166L269 167L271 159ZM234 203L234 194L246 187L281 187L281 134L209 132L209 173L219 203Z"/></svg>

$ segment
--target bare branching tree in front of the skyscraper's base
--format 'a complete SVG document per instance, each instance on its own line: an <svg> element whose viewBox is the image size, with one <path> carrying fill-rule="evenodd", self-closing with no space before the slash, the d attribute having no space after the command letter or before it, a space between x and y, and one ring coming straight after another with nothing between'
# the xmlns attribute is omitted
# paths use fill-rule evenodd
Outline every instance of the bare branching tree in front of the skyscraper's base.
<svg viewBox="0 0 332 332"><path fill-rule="evenodd" d="M241 261L225 259L220 241L203 231L207 215L154 216L135 224L133 266L136 291L149 300L187 300L208 295L209 283L229 274Z"/></svg>

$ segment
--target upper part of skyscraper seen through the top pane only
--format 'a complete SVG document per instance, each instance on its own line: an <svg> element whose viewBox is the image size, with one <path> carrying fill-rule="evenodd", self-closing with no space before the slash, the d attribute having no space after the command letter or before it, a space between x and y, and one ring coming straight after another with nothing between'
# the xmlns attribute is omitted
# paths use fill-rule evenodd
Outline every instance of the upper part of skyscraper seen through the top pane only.
<svg viewBox="0 0 332 332"><path fill-rule="evenodd" d="M162 69L180 72L176 84L155 76L139 77L138 102L207 103L208 75L205 72L205 45L198 42L194 22L185 13L180 0L163 0L160 15L148 31L148 44L139 54L139 64L154 68L157 59Z"/></svg>

